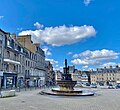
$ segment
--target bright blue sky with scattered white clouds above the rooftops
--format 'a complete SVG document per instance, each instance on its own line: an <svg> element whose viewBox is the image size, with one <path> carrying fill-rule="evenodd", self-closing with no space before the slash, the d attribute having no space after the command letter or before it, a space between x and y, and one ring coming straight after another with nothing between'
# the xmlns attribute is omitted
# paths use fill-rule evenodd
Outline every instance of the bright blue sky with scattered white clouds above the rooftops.
<svg viewBox="0 0 120 110"><path fill-rule="evenodd" d="M0 0L0 28L31 34L54 68L120 64L120 0Z"/></svg>

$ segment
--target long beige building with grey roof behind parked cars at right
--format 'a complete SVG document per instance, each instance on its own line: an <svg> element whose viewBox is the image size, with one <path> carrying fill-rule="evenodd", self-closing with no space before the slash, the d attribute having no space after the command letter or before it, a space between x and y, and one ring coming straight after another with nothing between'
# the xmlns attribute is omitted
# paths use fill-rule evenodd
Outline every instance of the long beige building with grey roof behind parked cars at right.
<svg viewBox="0 0 120 110"><path fill-rule="evenodd" d="M91 72L91 83L99 85L116 85L120 82L120 67L98 68Z"/></svg>

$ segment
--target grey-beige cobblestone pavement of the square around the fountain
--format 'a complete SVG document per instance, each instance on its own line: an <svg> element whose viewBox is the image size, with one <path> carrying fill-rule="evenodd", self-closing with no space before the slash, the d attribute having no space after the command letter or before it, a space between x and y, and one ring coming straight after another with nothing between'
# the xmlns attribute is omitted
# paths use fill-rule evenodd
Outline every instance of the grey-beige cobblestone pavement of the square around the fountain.
<svg viewBox="0 0 120 110"><path fill-rule="evenodd" d="M94 89L95 96L88 97L44 96L39 91L0 98L0 110L120 110L120 89Z"/></svg>

